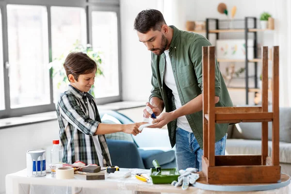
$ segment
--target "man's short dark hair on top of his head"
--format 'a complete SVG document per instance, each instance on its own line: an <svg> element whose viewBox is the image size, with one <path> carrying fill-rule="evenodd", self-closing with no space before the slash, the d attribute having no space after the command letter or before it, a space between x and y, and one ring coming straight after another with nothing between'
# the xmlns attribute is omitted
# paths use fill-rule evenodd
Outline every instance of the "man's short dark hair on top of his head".
<svg viewBox="0 0 291 194"><path fill-rule="evenodd" d="M141 11L134 20L134 30L146 33L151 29L153 31L161 31L163 24L166 24L162 13L156 9L148 9Z"/></svg>

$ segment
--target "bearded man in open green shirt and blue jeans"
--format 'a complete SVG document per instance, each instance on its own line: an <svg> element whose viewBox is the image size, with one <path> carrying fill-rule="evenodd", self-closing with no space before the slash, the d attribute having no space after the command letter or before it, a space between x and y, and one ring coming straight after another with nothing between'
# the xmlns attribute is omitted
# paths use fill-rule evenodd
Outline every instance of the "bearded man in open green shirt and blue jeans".
<svg viewBox="0 0 291 194"><path fill-rule="evenodd" d="M202 47L210 42L194 32L168 26L158 10L141 11L135 18L134 29L139 41L151 53L153 86L147 106L152 108L157 123L152 128L167 125L171 146L176 144L178 169L202 169ZM215 103L230 107L226 84L216 62ZM162 113L165 108L165 113ZM144 110L144 117L151 114ZM215 155L224 155L228 124L215 125Z"/></svg>

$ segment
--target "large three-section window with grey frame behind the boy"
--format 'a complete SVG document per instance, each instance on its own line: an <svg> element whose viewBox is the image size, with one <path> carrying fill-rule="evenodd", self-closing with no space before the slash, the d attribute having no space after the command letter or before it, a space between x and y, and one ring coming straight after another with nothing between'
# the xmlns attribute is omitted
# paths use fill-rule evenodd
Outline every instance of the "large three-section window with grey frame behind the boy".
<svg viewBox="0 0 291 194"><path fill-rule="evenodd" d="M91 92L98 104L120 101L119 9L118 0L0 0L0 119L55 111L71 51L100 53L104 77Z"/></svg>

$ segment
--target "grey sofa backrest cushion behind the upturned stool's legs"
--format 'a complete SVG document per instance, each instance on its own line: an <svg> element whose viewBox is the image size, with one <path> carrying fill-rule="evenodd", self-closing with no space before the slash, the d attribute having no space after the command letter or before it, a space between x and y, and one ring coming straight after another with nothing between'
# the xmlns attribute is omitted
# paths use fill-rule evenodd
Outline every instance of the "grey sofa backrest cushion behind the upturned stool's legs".
<svg viewBox="0 0 291 194"><path fill-rule="evenodd" d="M272 107L269 106L269 112ZM291 143L291 107L280 107L280 141ZM238 123L235 125L232 138L237 139L261 139L261 123ZM268 139L272 140L272 122L268 123Z"/></svg>

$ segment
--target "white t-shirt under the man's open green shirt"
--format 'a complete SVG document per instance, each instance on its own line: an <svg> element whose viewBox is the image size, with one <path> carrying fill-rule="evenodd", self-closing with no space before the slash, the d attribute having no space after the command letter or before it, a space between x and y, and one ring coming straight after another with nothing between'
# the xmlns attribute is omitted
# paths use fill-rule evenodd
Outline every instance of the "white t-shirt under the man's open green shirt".
<svg viewBox="0 0 291 194"><path fill-rule="evenodd" d="M165 65L165 73L164 73L164 82L166 84L166 86L168 88L170 88L172 90L172 94L174 95L175 98L175 105L176 105L176 109L180 108L181 105L181 101L180 101L180 97L178 94L178 89L177 89L177 85L175 82L175 78L174 78L174 73L173 73L173 69L172 69L172 63L171 63L171 59L169 56L169 50L165 50L164 51L165 55L166 55L166 65ZM180 116L177 119L177 127L184 129L188 132L193 132L189 122L186 118L186 116Z"/></svg>

